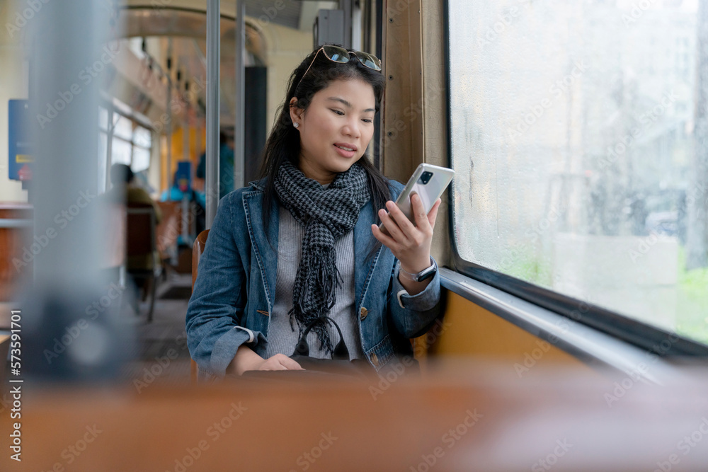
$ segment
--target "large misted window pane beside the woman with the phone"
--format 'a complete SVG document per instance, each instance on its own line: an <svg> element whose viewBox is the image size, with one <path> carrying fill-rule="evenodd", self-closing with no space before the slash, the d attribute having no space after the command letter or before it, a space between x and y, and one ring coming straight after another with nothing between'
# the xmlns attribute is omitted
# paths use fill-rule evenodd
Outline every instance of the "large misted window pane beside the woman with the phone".
<svg viewBox="0 0 708 472"><path fill-rule="evenodd" d="M698 4L450 0L460 260L708 343Z"/></svg>

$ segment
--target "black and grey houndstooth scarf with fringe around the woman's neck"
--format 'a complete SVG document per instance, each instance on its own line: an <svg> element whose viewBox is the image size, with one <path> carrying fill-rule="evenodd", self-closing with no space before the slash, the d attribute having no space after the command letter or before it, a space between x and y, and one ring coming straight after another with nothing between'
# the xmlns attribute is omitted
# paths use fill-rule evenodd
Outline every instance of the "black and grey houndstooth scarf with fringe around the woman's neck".
<svg viewBox="0 0 708 472"><path fill-rule="evenodd" d="M334 241L354 228L361 207L370 199L368 179L364 168L354 163L325 189L286 161L273 185L280 204L305 229L302 257L292 287L292 309L288 313L291 328L295 318L302 335L304 326L327 316L336 302L335 288L341 287L342 279ZM315 323L312 329L321 347L333 352L326 328L326 323Z"/></svg>

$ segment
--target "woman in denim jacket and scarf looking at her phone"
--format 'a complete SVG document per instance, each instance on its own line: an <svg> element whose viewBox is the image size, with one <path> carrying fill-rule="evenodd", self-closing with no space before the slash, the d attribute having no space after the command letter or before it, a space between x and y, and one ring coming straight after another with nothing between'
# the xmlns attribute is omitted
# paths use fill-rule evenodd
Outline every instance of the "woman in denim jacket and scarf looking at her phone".
<svg viewBox="0 0 708 472"><path fill-rule="evenodd" d="M221 200L199 263L186 330L200 369L301 369L288 356L309 326L310 357L332 357L342 340L378 371L435 322L440 200L426 215L412 197L414 226L392 201L403 185L364 154L383 88L379 59L338 46L293 71L265 177Z"/></svg>

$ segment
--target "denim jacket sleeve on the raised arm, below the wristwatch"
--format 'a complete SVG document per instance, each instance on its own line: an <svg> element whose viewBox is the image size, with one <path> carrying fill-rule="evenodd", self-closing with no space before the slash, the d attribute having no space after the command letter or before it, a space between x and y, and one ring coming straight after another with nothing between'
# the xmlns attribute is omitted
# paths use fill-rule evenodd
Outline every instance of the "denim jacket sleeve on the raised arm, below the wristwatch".
<svg viewBox="0 0 708 472"><path fill-rule="evenodd" d="M426 333L440 316L440 270L423 292L410 295L399 281L399 264L394 264L391 273L391 289L388 306L394 326L406 338L416 338ZM400 296L399 293L404 293ZM403 306L401 306L401 304Z"/></svg>

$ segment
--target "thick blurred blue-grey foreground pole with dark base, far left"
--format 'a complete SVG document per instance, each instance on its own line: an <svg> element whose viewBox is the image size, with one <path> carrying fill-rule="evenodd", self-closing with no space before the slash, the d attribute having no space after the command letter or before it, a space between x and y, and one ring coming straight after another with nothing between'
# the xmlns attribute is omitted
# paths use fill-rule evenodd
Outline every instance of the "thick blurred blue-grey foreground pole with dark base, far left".
<svg viewBox="0 0 708 472"><path fill-rule="evenodd" d="M35 235L25 244L33 254L34 281L18 306L19 374L45 380L115 378L122 357L132 352L118 316L122 289L115 281L109 285L103 270L115 250L108 246L110 235L120 227L98 197L99 86L118 54L105 43L107 8L118 16L113 3L50 1L28 34L36 193ZM87 68L96 74L88 84L79 78ZM55 111L49 114L47 107ZM59 341L63 354L47 362L43 353L55 352L52 346L69 332L77 334L71 343Z"/></svg>

